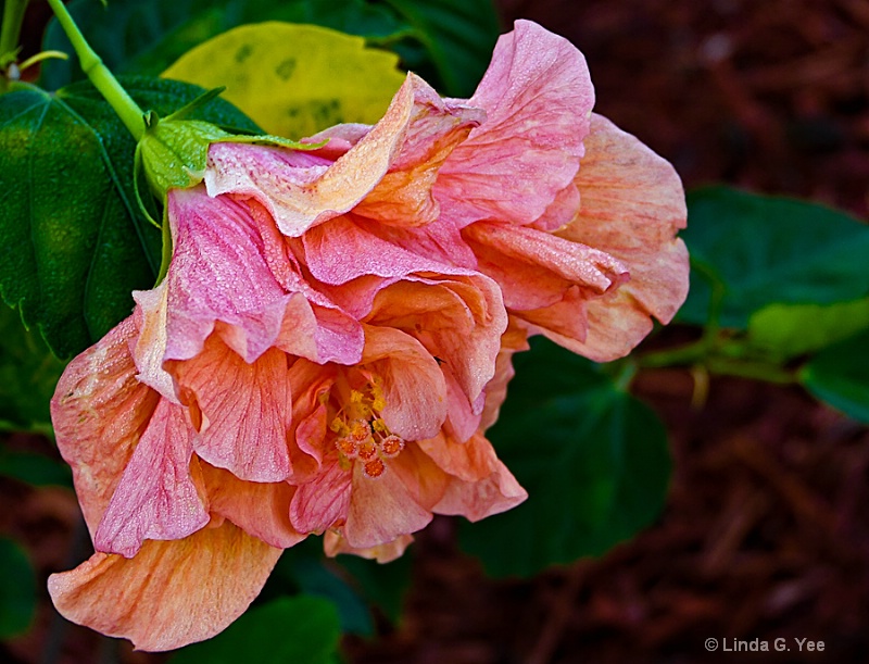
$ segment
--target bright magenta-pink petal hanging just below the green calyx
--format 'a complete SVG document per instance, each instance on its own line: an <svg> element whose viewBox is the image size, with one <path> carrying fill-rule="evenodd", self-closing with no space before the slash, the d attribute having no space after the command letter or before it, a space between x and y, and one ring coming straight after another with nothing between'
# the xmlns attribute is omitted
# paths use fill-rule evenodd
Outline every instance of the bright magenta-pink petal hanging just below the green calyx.
<svg viewBox="0 0 869 664"><path fill-rule="evenodd" d="M222 321L225 341L252 362L280 333L288 296L264 260L243 203L211 199L204 188L168 197L174 253L166 288L165 360L189 360Z"/></svg>

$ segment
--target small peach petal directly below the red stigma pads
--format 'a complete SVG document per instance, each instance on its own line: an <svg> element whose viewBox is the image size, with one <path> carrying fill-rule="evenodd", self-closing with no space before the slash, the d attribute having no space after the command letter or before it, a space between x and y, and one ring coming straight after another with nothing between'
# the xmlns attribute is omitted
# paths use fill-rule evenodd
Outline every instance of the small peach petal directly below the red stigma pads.
<svg viewBox="0 0 869 664"><path fill-rule="evenodd" d="M425 528L431 521L431 512L414 500L395 473L387 471L377 479L368 479L361 464L355 464L352 473L353 491L342 530L349 546L380 547Z"/></svg>

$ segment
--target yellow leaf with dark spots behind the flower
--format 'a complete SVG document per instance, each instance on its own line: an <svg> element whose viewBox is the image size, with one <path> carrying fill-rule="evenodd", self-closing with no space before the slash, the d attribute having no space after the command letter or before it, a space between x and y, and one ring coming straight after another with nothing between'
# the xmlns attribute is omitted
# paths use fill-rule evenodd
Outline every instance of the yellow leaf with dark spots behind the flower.
<svg viewBox="0 0 869 664"><path fill-rule="evenodd" d="M211 89L268 134L302 138L339 123L374 124L404 80L394 53L325 27L242 25L199 45L163 72Z"/></svg>

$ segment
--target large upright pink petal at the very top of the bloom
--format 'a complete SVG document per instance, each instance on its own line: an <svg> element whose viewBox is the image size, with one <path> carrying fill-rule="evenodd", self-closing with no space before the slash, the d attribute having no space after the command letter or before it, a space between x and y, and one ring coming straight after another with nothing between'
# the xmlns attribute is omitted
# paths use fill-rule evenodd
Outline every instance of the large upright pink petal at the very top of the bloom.
<svg viewBox="0 0 869 664"><path fill-rule="evenodd" d="M582 54L528 21L503 35L469 104L487 120L440 171L434 196L458 226L528 225L574 179L594 89Z"/></svg>

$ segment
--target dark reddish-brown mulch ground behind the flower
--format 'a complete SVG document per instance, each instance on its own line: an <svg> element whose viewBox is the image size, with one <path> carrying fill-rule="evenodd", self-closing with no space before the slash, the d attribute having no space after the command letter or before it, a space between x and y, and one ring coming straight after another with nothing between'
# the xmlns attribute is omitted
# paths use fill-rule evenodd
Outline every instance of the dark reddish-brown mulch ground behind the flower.
<svg viewBox="0 0 869 664"><path fill-rule="evenodd" d="M866 0L501 0L505 25L538 21L589 60L596 111L669 159L688 187L727 181L869 213ZM414 544L404 618L357 664L869 661L869 431L798 388L713 379L690 405L688 373L641 375L676 462L659 522L602 560L531 581L493 581L438 519ZM64 491L0 484L0 533L43 574L68 567ZM520 537L517 534L517 537ZM0 661L37 662L42 606ZM786 653L707 653L704 640L786 639ZM797 652L794 639L824 641ZM65 632L61 662L117 661L108 640ZM731 641L732 642L732 641ZM123 662L162 657L131 654Z"/></svg>

